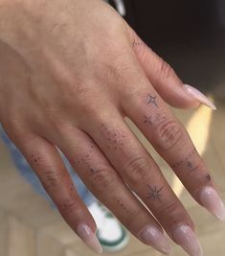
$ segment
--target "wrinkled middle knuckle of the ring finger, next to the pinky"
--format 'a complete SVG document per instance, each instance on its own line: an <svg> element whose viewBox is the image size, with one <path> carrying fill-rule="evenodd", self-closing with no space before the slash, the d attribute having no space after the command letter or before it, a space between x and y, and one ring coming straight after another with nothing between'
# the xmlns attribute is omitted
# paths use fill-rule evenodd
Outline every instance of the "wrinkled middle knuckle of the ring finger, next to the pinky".
<svg viewBox="0 0 225 256"><path fill-rule="evenodd" d="M113 183L113 175L109 172L108 169L104 168L101 170L95 171L90 176L90 185L95 190L102 190L103 188L112 185Z"/></svg>

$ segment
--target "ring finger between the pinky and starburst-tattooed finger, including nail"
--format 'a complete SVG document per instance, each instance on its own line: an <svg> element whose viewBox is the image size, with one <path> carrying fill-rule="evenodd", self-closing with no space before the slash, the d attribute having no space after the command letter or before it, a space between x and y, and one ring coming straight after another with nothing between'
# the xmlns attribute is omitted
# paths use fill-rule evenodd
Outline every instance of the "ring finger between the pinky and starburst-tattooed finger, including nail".
<svg viewBox="0 0 225 256"><path fill-rule="evenodd" d="M131 193L93 140L79 128L69 126L56 133L54 143L93 194L143 243L169 254L169 242L160 224Z"/></svg>

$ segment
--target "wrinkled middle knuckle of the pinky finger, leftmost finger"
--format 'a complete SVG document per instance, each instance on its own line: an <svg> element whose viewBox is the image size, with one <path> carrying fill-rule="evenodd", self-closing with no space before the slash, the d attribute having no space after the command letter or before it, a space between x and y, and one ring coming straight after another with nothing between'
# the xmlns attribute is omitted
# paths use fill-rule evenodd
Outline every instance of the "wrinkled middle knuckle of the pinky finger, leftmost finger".
<svg viewBox="0 0 225 256"><path fill-rule="evenodd" d="M40 178L47 189L55 188L61 182L60 176L55 171L45 171Z"/></svg>

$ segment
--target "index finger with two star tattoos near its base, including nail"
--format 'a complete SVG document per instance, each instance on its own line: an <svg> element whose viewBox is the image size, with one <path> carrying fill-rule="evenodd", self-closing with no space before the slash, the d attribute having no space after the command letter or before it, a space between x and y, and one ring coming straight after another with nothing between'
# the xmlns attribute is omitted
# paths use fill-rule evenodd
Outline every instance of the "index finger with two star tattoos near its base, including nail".
<svg viewBox="0 0 225 256"><path fill-rule="evenodd" d="M152 85L123 95L125 114L144 133L156 151L169 163L195 200L216 218L225 221L225 207L219 198L202 157L184 126L173 116Z"/></svg>

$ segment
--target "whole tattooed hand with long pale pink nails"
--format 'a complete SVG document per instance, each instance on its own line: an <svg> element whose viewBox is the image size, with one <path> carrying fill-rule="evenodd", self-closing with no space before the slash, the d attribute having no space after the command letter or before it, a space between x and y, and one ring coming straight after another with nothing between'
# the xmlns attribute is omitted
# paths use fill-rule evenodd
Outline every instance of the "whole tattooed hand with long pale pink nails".
<svg viewBox="0 0 225 256"><path fill-rule="evenodd" d="M214 108L101 0L0 0L0 122L62 217L96 251L95 221L58 150L143 243L169 254L165 230L200 256L191 217L124 118L191 196L225 220L213 177L167 105L201 103Z"/></svg>

